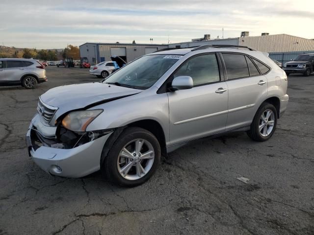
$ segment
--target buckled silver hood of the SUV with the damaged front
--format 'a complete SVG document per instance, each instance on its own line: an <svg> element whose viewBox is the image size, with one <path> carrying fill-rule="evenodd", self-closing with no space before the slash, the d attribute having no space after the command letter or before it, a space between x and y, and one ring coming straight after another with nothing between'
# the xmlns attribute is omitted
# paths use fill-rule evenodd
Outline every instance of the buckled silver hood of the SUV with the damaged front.
<svg viewBox="0 0 314 235"><path fill-rule="evenodd" d="M106 100L112 100L142 90L136 90L106 83L94 82L55 87L40 96L41 100L51 106L58 107L56 117L76 109L92 107Z"/></svg>

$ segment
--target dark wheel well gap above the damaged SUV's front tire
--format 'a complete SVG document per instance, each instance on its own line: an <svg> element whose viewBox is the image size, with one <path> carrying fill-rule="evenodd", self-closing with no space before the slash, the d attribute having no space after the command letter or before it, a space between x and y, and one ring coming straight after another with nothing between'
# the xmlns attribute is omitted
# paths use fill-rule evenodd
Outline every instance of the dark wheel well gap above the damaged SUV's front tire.
<svg viewBox="0 0 314 235"><path fill-rule="evenodd" d="M153 133L153 135L157 138L160 144L161 154L163 156L167 154L165 135L164 135L161 125L157 121L152 120L152 119L145 119L145 120L132 122L128 124L128 127L129 126L141 127Z"/></svg>

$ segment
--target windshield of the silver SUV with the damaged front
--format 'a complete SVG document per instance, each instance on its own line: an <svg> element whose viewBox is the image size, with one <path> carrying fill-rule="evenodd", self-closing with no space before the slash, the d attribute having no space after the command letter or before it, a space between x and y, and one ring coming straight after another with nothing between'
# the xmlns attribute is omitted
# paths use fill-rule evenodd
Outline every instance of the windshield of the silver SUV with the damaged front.
<svg viewBox="0 0 314 235"><path fill-rule="evenodd" d="M151 87L181 55L147 55L122 67L104 82L145 90Z"/></svg>

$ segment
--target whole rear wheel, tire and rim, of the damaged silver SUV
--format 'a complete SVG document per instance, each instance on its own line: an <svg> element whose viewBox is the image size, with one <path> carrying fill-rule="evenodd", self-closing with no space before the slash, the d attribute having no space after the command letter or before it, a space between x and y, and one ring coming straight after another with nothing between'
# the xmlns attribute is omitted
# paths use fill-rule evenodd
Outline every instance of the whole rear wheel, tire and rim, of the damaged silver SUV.
<svg viewBox="0 0 314 235"><path fill-rule="evenodd" d="M277 110L274 105L263 103L256 112L248 136L254 141L267 141L274 134L277 125Z"/></svg>

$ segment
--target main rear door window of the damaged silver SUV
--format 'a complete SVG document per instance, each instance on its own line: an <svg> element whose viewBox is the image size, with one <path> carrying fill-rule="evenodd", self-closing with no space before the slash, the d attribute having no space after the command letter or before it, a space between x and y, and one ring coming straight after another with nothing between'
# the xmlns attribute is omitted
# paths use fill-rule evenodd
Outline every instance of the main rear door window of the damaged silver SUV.
<svg viewBox="0 0 314 235"><path fill-rule="evenodd" d="M239 54L222 54L225 62L228 79L248 77L249 69L244 55Z"/></svg>

